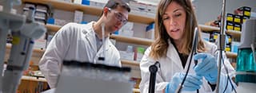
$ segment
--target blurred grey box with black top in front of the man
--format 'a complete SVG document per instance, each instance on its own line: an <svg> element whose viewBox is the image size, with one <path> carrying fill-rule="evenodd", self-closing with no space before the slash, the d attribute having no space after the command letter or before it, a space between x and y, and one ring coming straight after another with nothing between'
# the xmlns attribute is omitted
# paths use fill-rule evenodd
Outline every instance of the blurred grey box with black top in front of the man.
<svg viewBox="0 0 256 93"><path fill-rule="evenodd" d="M131 93L130 68L66 60L55 93Z"/></svg>

